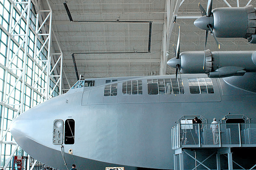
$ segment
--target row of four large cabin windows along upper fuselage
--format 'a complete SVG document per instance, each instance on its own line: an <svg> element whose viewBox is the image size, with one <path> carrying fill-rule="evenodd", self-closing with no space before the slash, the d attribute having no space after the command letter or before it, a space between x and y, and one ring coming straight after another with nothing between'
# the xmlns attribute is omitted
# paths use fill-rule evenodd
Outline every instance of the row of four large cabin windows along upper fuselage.
<svg viewBox="0 0 256 170"><path fill-rule="evenodd" d="M191 94L214 93L213 84L210 78L188 79ZM147 93L154 94L184 94L184 86L181 79L148 79ZM142 80L129 80L122 83L122 94L141 95ZM104 96L116 96L117 83L105 86Z"/></svg>

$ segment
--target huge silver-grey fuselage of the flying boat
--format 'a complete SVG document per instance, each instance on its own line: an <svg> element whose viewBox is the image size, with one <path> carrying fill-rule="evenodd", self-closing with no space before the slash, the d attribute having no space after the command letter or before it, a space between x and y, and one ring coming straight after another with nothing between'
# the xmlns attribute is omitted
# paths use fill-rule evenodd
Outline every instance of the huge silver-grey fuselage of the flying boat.
<svg viewBox="0 0 256 170"><path fill-rule="evenodd" d="M173 169L171 128L183 115L202 115L211 123L212 118L221 119L228 113L244 114L255 122L255 75L214 78L214 93L191 94L188 79L207 75L182 74L184 94L176 95L152 95L147 86L149 79L175 79L175 75L90 79L95 80L94 87L70 89L20 114L11 133L32 157L64 170L61 145L53 144L53 122L73 119L74 144L62 144L69 168L76 164L78 170L114 166ZM113 79L117 81L105 83ZM252 85L247 87L242 79ZM124 95L122 83L127 80L142 80L142 94ZM104 96L105 86L114 83L117 95ZM68 154L70 149L72 154Z"/></svg>

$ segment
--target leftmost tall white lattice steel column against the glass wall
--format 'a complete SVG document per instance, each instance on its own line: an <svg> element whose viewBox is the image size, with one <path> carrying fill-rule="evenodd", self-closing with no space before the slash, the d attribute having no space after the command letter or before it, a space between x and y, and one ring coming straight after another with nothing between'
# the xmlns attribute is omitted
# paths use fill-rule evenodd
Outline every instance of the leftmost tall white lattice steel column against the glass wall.
<svg viewBox="0 0 256 170"><path fill-rule="evenodd" d="M22 4L24 5L24 10L22 11L22 13L19 16L19 19L13 20L13 10L14 7L17 4ZM9 108L11 108L13 111L16 111L15 116L13 117L13 119L15 119L17 117L17 115L19 113L23 112L23 105L24 105L24 87L25 87L25 74L26 74L26 61L27 61L27 51L28 51L28 35L29 35L29 20L30 20L30 6L31 6L31 0L28 1L24 1L24 2L13 2L11 1L11 11L10 11L10 23L9 23L9 34L8 34L8 43L7 43L7 55L6 55L6 68L5 68L5 83L4 83L4 97L3 97L3 101L4 104L2 106L2 119L1 122L4 122L4 114L5 114L5 108L6 106L8 106ZM25 34L15 34L14 30L17 27L18 23L21 21L22 18L25 18L24 16L26 15L26 28L25 28ZM15 22L15 23L13 23ZM16 51L14 51L14 55L12 56L12 58L10 57L10 42L11 39L14 39L14 37L20 37L22 40L22 42L19 44L16 41L16 44L19 46L18 49ZM23 47L22 47L23 46ZM12 61L18 57L19 51L23 49L24 54L23 54L23 65L22 68L12 68ZM7 85L7 76L8 73L13 74L12 70L21 70L21 73L18 77L18 79L16 80L15 84L12 85L12 87L10 88L10 90L7 90L6 85ZM18 76L18 75L17 75ZM15 103L9 103L9 98L11 96L11 94L14 92L14 89L16 88L16 85L18 84L18 82L21 81L21 97L20 97L20 103L19 104L15 104ZM15 106L19 106L19 109L15 109ZM2 123L4 124L4 123ZM9 125L10 127L10 125ZM3 125L1 126L1 142L3 143L3 140L5 139L5 136L9 130L9 127L6 129L6 132L3 133ZM5 141L6 143L6 141ZM8 143L8 142L7 142ZM13 142L9 142L9 144L14 145L15 143ZM18 145L16 144L15 149L13 150L13 152L11 153L9 159L7 160L6 164L4 165L4 170L6 169L6 167L8 166L8 164L10 163L13 154L16 152L18 148ZM1 152L2 152L2 147L1 147ZM0 163L1 163L1 156L0 156Z"/></svg>

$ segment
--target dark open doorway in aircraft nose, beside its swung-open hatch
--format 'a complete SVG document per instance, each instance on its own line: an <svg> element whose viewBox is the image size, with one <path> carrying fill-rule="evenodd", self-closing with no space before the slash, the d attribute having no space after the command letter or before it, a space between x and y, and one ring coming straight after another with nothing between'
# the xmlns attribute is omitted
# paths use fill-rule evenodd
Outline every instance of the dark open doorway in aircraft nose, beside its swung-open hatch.
<svg viewBox="0 0 256 170"><path fill-rule="evenodd" d="M75 143L75 121L73 119L67 119L65 121L65 144Z"/></svg>

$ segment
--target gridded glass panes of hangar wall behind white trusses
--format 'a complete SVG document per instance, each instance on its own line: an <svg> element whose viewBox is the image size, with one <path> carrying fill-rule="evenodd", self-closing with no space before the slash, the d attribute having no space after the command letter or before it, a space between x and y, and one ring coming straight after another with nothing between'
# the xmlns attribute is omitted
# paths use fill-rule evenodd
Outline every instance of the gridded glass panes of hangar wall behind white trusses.
<svg viewBox="0 0 256 170"><path fill-rule="evenodd" d="M19 2L22 1L28 0L19 0ZM17 2L17 0L15 0L15 2ZM13 10L11 11L12 4ZM47 62L37 62L36 60L47 60L48 46L45 45L43 50L41 50L39 53L40 48L45 42L45 36L36 36L35 9L38 8L31 3L29 6L30 12L28 12L25 10L25 7L26 5L23 3L13 3L12 0L0 0L0 137L2 138L3 136L3 138L0 139L3 141L1 144L1 168L6 165L11 153L16 149L16 145L12 144L14 143L14 139L12 138L11 133L8 131L8 127L15 115L19 114L19 108L22 108L22 111L20 112L24 112L40 103L40 101L43 102L47 100L47 97L44 95L45 89L47 89L47 73L43 69ZM26 12L19 20L24 10ZM27 14L30 15L30 19L27 47L25 48L26 44L23 40L26 36L12 36L10 34L11 30L9 29L14 28L12 34L26 34ZM10 23L11 17L13 21ZM17 21L18 24L16 27L14 27ZM40 27L40 24L38 27ZM43 32L41 31L39 33ZM22 45L19 48L20 44ZM27 49L27 51L25 51L25 49ZM27 55L25 56L25 54ZM35 56L37 56L37 58L35 58ZM6 60L9 60L9 62ZM24 62L26 65L23 90L22 79L19 79L19 77L22 74L22 69L20 68L24 68ZM6 63L11 64L8 66ZM54 88L55 84L55 77L50 78L50 91ZM22 91L24 91L24 95ZM57 95L59 95L58 86L49 98ZM7 100L5 101L5 99ZM20 107L20 104L23 104L23 107ZM26 156L27 154L20 147L18 147L14 155ZM11 169L11 165L12 161L10 161L10 163L7 165L6 169Z"/></svg>

